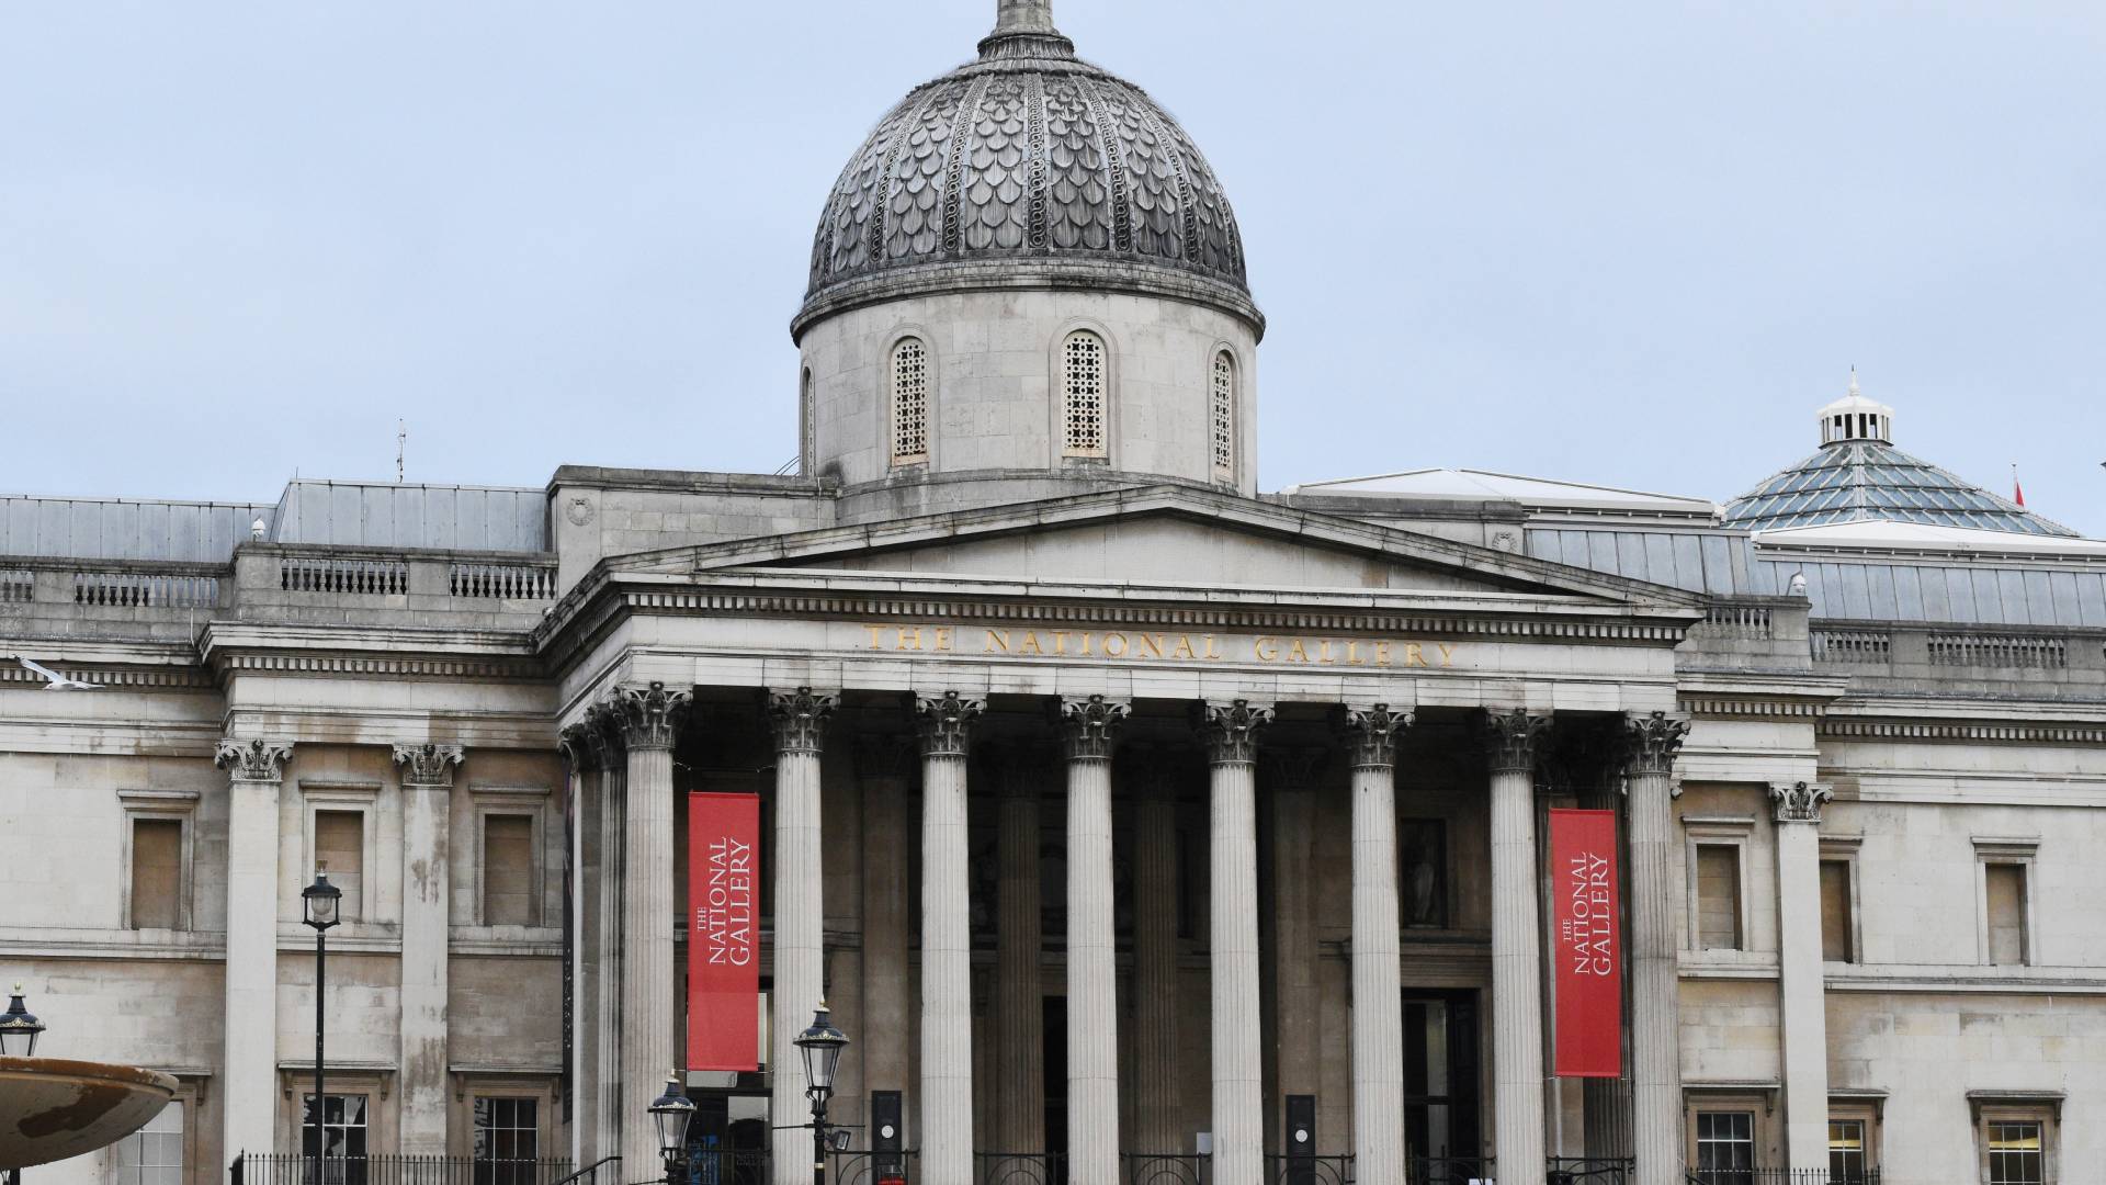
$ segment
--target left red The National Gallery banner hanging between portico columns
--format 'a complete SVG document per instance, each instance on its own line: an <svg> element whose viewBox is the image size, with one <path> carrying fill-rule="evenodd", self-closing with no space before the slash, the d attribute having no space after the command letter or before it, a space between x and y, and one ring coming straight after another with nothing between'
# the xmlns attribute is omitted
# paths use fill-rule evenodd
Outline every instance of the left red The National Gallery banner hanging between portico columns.
<svg viewBox="0 0 2106 1185"><path fill-rule="evenodd" d="M687 795L687 1069L760 1069L760 799Z"/></svg>

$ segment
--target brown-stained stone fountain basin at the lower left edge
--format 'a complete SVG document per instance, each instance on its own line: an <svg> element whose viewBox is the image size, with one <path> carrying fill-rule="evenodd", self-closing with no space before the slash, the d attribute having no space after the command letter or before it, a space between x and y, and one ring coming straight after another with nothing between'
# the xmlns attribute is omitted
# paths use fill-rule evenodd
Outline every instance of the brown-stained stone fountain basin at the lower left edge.
<svg viewBox="0 0 2106 1185"><path fill-rule="evenodd" d="M110 1147L143 1128L175 1080L152 1069L65 1058L0 1058L0 1168Z"/></svg>

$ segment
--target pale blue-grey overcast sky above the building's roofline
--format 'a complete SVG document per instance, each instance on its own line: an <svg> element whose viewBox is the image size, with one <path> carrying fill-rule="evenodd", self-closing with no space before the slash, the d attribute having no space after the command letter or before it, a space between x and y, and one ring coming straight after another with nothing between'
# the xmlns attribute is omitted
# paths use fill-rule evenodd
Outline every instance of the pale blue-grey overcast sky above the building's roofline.
<svg viewBox="0 0 2106 1185"><path fill-rule="evenodd" d="M0 487L769 472L819 205L992 0L0 4ZM1261 485L1731 498L1857 365L2106 533L2095 0L1055 0L1192 131Z"/></svg>

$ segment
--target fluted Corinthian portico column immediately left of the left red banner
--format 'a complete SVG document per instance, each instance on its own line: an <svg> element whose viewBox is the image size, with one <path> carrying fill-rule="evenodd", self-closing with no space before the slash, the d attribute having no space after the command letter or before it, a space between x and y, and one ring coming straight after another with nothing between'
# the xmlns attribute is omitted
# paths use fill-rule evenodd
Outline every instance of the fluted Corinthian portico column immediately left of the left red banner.
<svg viewBox="0 0 2106 1185"><path fill-rule="evenodd" d="M628 751L621 875L621 1082L659 1082L678 1063L674 1048L674 907L672 907L672 746L687 717L689 692L613 687L609 719ZM632 1099L634 1103L634 1099ZM657 1147L651 1113L630 1107L621 1115L628 1158Z"/></svg>

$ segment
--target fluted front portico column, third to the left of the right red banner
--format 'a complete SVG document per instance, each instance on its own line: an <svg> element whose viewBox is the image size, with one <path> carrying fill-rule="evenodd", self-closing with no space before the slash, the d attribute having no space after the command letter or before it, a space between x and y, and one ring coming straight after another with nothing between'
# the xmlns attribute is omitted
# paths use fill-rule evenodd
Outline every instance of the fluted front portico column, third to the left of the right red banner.
<svg viewBox="0 0 2106 1185"><path fill-rule="evenodd" d="M1213 1181L1257 1185L1266 1168L1264 1016L1257 993L1257 734L1272 708L1200 706L1211 801Z"/></svg>

